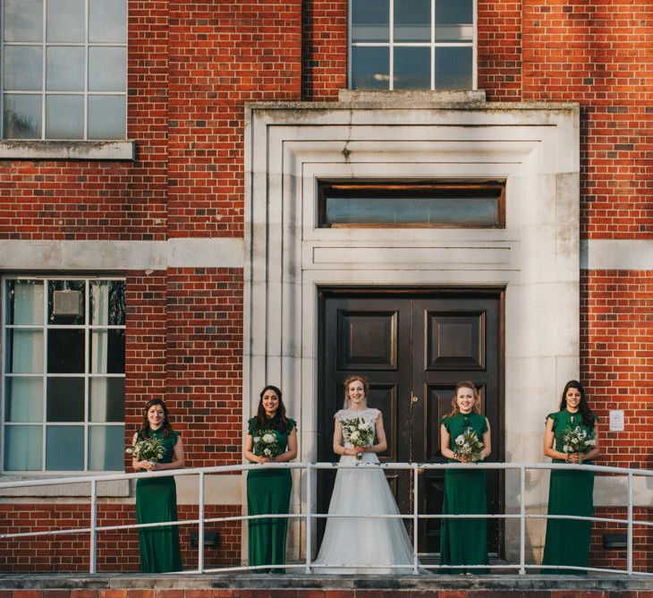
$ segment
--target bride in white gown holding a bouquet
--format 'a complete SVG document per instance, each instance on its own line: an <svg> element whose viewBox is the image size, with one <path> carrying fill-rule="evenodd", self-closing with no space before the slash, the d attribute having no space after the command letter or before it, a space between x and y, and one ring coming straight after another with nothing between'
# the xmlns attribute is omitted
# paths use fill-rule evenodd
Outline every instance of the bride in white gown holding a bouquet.
<svg viewBox="0 0 653 598"><path fill-rule="evenodd" d="M369 383L361 376L350 376L344 380L344 389L345 408L334 415L334 452L341 456L341 465L378 463L376 454L387 449L386 431L381 412L367 405ZM361 442L366 428L368 441ZM359 444L366 446L356 446ZM355 517L399 515L381 469L339 468L328 514L318 559L313 563L316 572L412 573L412 546L401 519ZM352 517L331 517L334 515ZM392 567L397 565L403 567Z"/></svg>

